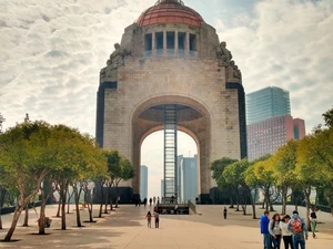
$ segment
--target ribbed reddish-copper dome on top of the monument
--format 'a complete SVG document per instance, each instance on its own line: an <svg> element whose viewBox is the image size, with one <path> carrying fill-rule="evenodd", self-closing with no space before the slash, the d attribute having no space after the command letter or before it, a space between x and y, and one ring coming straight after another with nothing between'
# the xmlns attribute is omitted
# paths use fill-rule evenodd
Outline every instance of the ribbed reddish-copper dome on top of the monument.
<svg viewBox="0 0 333 249"><path fill-rule="evenodd" d="M158 23L183 23L201 27L204 21L195 10L185 7L181 0L159 0L140 15L137 23L141 27Z"/></svg>

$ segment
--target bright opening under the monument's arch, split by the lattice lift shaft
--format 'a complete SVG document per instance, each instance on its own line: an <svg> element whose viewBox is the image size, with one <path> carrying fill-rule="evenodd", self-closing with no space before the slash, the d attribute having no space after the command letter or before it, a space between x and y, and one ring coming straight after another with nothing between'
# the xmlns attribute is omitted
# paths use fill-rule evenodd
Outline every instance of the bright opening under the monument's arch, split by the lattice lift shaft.
<svg viewBox="0 0 333 249"><path fill-rule="evenodd" d="M162 198L163 196L163 131L162 126L150 131L141 143L140 196ZM198 139L183 127L178 129L178 197L179 203L193 200L200 194L200 162ZM193 137L194 136L194 137ZM145 166L147 168L142 167ZM145 170L148 174L145 175ZM145 190L147 189L147 190Z"/></svg>

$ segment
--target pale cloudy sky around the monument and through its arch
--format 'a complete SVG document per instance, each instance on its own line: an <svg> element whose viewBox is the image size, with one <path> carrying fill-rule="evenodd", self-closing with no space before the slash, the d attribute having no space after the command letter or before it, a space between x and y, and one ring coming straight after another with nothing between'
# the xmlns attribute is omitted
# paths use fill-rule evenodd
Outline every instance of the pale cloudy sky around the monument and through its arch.
<svg viewBox="0 0 333 249"><path fill-rule="evenodd" d="M332 0L183 0L216 29L242 71L246 93L290 91L293 117L306 132L333 104ZM99 72L132 24L155 0L0 0L0 113L3 125L62 123L94 135ZM160 135L159 135L160 134ZM142 146L150 177L162 170L162 133ZM193 155L180 135L179 154ZM157 183L149 195L160 195Z"/></svg>

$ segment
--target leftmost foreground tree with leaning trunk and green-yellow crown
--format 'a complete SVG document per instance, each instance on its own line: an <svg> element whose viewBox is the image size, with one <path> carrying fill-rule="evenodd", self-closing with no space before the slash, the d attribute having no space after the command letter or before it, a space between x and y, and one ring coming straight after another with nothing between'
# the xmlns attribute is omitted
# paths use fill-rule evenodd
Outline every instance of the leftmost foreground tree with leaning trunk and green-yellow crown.
<svg viewBox="0 0 333 249"><path fill-rule="evenodd" d="M8 173L13 188L18 189L18 203L12 224L4 241L10 241L22 210L40 189L49 173L54 152L48 148L50 125L46 122L27 122L9 128L0 135L0 164Z"/></svg>

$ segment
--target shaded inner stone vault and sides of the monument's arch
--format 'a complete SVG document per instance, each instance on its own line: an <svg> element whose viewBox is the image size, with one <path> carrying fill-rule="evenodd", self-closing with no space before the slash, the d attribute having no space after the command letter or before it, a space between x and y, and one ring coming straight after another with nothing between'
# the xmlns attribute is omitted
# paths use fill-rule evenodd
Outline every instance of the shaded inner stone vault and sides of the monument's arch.
<svg viewBox="0 0 333 249"><path fill-rule="evenodd" d="M132 114L132 164L135 172L140 170L141 144L151 133L163 129L163 118L160 110L164 104L178 104L178 131L190 135L198 146L198 163L200 165L200 195L209 195L211 188L210 170L210 114L203 104L185 96L157 96L141 103ZM140 193L140 174L132 179L134 194Z"/></svg>

